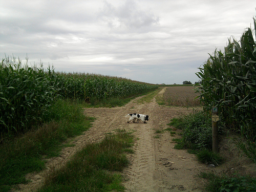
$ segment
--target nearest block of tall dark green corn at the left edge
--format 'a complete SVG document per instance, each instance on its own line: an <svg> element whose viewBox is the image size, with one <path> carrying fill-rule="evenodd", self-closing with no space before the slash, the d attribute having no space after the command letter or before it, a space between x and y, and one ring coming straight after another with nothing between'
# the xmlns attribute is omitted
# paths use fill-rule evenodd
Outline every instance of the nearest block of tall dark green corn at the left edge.
<svg viewBox="0 0 256 192"><path fill-rule="evenodd" d="M21 67L13 57L0 66L0 130L19 132L29 129L46 115L54 89L43 69Z"/></svg>

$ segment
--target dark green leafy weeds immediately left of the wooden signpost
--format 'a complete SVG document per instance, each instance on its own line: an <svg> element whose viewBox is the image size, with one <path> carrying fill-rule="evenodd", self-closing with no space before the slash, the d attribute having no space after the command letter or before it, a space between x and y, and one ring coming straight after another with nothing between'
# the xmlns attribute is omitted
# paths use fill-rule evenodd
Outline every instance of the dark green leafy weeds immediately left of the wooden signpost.
<svg viewBox="0 0 256 192"><path fill-rule="evenodd" d="M169 125L175 126L177 129L182 129L183 131L182 138L173 139L173 141L177 142L174 148L188 148L190 152L197 155L201 163L214 165L223 163L223 158L219 154L211 152L211 120L203 112L174 118Z"/></svg>

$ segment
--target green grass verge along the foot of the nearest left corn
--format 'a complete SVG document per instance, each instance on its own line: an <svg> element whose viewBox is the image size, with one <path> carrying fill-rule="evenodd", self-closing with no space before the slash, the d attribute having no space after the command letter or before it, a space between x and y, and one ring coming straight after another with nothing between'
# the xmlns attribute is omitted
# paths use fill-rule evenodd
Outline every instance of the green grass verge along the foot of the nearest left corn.
<svg viewBox="0 0 256 192"><path fill-rule="evenodd" d="M0 145L0 191L27 183L25 175L45 168L42 156L56 156L60 143L86 131L92 119L84 117L79 103L59 100L52 106L51 121Z"/></svg>

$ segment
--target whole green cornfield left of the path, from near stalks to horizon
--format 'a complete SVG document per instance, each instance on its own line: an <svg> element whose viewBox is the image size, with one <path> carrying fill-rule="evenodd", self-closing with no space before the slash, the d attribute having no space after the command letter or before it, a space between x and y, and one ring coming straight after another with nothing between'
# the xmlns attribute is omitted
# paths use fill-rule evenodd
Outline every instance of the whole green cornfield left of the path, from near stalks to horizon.
<svg viewBox="0 0 256 192"><path fill-rule="evenodd" d="M56 98L95 103L113 97L125 98L156 89L157 86L125 78L56 73L50 67L22 65L6 57L0 66L0 133L24 132L49 115Z"/></svg>

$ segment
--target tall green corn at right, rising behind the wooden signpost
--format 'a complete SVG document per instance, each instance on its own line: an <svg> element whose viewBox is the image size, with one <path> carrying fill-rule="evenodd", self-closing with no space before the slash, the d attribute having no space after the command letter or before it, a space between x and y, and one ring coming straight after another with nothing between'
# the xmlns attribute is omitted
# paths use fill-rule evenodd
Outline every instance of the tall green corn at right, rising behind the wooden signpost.
<svg viewBox="0 0 256 192"><path fill-rule="evenodd" d="M254 28L256 29L254 19ZM256 45L247 28L240 41L229 39L199 68L198 88L206 110L218 106L227 125L256 140Z"/></svg>

